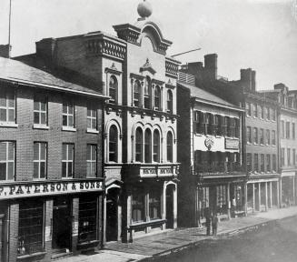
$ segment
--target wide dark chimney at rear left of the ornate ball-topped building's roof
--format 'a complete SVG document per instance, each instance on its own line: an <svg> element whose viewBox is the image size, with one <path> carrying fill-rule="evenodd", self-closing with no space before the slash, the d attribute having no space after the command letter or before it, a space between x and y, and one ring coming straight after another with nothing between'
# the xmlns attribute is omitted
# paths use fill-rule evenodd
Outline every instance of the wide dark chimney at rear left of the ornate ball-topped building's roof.
<svg viewBox="0 0 297 262"><path fill-rule="evenodd" d="M54 62L54 52L56 40L54 38L45 38L36 42L36 55L43 58L46 64L52 65Z"/></svg>

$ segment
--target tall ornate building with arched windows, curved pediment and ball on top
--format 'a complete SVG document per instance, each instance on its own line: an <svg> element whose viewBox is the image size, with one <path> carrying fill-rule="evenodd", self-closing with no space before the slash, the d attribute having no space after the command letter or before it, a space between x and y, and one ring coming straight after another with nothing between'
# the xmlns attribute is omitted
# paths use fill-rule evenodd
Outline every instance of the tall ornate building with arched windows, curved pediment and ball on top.
<svg viewBox="0 0 297 262"><path fill-rule="evenodd" d="M98 31L36 43L35 56L111 97L104 109L106 241L177 226L179 63L166 56L172 43L150 10L147 2L138 5L141 18L114 25L117 36Z"/></svg>

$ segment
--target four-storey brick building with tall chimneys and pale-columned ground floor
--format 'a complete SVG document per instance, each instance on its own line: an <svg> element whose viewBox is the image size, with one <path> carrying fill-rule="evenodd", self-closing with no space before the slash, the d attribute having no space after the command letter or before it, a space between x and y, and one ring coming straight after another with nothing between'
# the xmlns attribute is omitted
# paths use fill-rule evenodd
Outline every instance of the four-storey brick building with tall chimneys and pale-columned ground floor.
<svg viewBox="0 0 297 262"><path fill-rule="evenodd" d="M278 103L256 91L255 71L241 70L241 79L229 81L217 74L217 55L204 55L202 62L182 66L195 76L196 86L245 108L243 163L247 175L246 211L279 207Z"/></svg>

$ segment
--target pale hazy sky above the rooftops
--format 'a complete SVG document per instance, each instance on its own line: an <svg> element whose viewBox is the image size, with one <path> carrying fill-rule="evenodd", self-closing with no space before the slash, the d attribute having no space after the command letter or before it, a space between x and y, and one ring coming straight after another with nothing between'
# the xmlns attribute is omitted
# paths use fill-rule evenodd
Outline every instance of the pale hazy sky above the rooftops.
<svg viewBox="0 0 297 262"><path fill-rule="evenodd" d="M114 33L113 25L134 24L142 0L12 0L12 55L35 53L45 37L92 31ZM297 89L297 0L147 0L150 17L173 42L167 55L182 63L218 54L218 75L240 78L256 70L257 89L283 83ZM8 42L9 0L0 0L0 45ZM297 6L296 6L297 11ZM296 12L297 13L297 12Z"/></svg>

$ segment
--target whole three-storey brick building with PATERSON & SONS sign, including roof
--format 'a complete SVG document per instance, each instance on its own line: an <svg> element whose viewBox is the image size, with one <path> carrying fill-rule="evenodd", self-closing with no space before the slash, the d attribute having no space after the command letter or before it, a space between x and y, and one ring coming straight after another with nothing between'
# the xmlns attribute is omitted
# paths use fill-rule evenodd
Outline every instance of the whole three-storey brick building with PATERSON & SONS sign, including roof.
<svg viewBox="0 0 297 262"><path fill-rule="evenodd" d="M101 246L105 98L0 57L1 261Z"/></svg>

